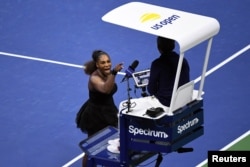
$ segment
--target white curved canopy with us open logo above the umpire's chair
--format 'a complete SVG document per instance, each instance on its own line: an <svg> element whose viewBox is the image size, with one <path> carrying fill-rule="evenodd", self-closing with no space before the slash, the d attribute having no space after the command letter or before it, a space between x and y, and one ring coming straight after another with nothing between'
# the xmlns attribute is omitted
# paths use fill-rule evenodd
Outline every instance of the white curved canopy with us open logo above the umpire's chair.
<svg viewBox="0 0 250 167"><path fill-rule="evenodd" d="M180 52L211 38L219 32L216 19L142 2L117 7L103 21L176 40Z"/></svg>

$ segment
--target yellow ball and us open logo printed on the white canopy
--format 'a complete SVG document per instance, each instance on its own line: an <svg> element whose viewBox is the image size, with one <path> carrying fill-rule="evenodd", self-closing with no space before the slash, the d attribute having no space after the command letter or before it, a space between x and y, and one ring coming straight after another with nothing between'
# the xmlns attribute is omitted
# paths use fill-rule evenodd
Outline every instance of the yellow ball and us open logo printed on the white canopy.
<svg viewBox="0 0 250 167"><path fill-rule="evenodd" d="M154 20L158 20L161 18L161 15L157 14L157 13L146 13L143 14L140 17L141 23L145 23L145 22L149 22L149 21L154 21ZM160 28L173 24L174 21L176 21L177 19L179 19L180 16L178 15L172 15L170 17L164 18L163 20L159 21L158 23L152 25L150 28L154 29L154 30L159 30Z"/></svg>

